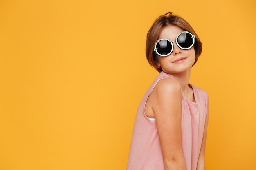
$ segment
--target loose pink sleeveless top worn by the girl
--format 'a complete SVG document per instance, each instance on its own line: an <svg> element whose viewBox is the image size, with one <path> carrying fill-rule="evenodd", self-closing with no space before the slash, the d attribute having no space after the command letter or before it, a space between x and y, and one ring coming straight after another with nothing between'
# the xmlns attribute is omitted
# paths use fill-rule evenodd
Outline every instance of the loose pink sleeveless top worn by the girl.
<svg viewBox="0 0 256 170"><path fill-rule="evenodd" d="M163 78L171 77L164 72L159 73L141 99L135 117L126 170L164 170L156 123L148 119L144 112L148 96L157 82ZM204 133L208 95L194 85L191 87L195 102L186 99L182 94L182 152L187 170L196 170Z"/></svg>

